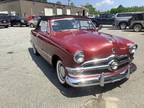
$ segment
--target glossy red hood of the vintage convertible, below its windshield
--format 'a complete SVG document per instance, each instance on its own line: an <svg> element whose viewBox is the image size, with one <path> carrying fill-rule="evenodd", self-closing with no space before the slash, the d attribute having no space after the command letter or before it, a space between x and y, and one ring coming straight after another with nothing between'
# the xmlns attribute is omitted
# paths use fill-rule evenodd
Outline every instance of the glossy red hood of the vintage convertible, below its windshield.
<svg viewBox="0 0 144 108"><path fill-rule="evenodd" d="M112 54L128 53L127 39L94 31L68 31L55 33L55 39L69 52L84 51L87 59L103 58Z"/></svg>

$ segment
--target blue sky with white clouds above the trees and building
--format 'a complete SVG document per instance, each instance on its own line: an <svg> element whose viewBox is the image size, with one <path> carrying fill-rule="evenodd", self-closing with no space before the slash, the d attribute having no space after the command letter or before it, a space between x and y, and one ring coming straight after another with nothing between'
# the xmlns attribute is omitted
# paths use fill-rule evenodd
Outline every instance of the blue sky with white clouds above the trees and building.
<svg viewBox="0 0 144 108"><path fill-rule="evenodd" d="M61 1L63 4L67 4L68 0L48 0L48 2ZM144 0L71 0L76 6L85 5L87 3L92 4L97 10L106 11L111 8L123 5L124 7L131 6L144 6Z"/></svg>

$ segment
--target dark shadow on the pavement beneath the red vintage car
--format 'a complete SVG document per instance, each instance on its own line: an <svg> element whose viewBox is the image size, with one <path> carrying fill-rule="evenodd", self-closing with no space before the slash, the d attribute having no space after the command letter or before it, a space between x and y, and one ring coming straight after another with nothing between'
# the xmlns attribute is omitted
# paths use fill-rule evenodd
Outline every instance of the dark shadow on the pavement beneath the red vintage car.
<svg viewBox="0 0 144 108"><path fill-rule="evenodd" d="M29 48L28 51L33 61L46 75L48 80L51 81L51 83L60 90L61 94L66 97L73 98L73 97L81 97L81 96L88 96L88 95L96 96L97 94L107 92L117 87L121 87L121 84L127 81L127 80L122 80L113 84L107 84L104 87L92 86L92 87L85 87L85 88L72 88L72 87L65 88L58 82L54 68L50 64L48 64L48 62L45 61L41 56L34 55L32 48ZM136 65L134 65L132 72L136 71L136 69L137 69Z"/></svg>

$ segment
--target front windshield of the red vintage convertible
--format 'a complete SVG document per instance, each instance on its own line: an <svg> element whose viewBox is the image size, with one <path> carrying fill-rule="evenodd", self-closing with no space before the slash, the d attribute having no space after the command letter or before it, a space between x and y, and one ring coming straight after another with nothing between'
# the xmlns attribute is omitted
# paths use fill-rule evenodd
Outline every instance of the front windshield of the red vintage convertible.
<svg viewBox="0 0 144 108"><path fill-rule="evenodd" d="M52 21L53 31L95 29L94 24L89 19L65 18Z"/></svg>

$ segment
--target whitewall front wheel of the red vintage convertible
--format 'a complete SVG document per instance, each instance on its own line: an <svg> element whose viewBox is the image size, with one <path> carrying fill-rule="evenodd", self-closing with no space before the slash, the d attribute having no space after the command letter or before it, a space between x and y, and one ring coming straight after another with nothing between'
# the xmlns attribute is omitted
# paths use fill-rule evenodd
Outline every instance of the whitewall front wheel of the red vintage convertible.
<svg viewBox="0 0 144 108"><path fill-rule="evenodd" d="M58 77L58 80L59 82L65 86L65 87L68 87L67 83L66 83L66 71L65 71L65 67L63 66L63 63L61 60L58 60L57 61L57 64L56 64L56 72L57 72L57 77Z"/></svg>

